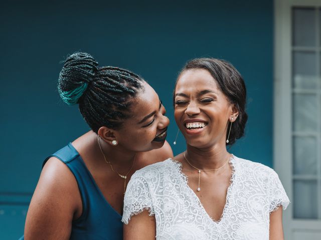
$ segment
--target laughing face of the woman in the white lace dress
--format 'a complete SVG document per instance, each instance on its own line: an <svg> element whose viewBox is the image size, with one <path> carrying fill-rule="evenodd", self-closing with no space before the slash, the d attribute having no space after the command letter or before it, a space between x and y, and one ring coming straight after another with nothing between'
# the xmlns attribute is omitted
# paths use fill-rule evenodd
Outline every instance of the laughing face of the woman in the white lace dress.
<svg viewBox="0 0 321 240"><path fill-rule="evenodd" d="M207 148L224 144L229 121L237 111L208 70L181 73L175 88L175 120L189 145Z"/></svg>

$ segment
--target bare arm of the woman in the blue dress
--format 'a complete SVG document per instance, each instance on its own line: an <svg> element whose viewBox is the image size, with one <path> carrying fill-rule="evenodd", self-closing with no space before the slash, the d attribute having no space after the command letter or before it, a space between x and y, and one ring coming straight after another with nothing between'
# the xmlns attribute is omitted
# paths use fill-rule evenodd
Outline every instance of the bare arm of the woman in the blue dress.
<svg viewBox="0 0 321 240"><path fill-rule="evenodd" d="M69 168L52 157L45 164L32 197L25 239L69 239L72 220L82 206L77 181Z"/></svg>

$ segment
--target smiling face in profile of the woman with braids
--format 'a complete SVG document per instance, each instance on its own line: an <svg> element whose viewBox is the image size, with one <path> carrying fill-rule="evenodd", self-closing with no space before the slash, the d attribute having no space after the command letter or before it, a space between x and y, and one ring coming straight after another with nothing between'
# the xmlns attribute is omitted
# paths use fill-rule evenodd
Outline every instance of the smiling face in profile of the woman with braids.
<svg viewBox="0 0 321 240"><path fill-rule="evenodd" d="M132 117L114 131L119 145L133 151L162 147L170 120L165 116L166 109L157 93L148 83L144 83L144 90L133 100L130 112Z"/></svg>

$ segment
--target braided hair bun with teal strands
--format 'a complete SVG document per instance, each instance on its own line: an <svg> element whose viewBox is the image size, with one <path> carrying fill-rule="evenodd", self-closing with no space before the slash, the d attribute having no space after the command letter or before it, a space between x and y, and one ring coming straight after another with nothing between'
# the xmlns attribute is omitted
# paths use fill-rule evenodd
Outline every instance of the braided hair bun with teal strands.
<svg viewBox="0 0 321 240"><path fill-rule="evenodd" d="M77 52L67 57L58 78L58 91L63 101L68 105L78 103L97 68L98 62L88 53Z"/></svg>

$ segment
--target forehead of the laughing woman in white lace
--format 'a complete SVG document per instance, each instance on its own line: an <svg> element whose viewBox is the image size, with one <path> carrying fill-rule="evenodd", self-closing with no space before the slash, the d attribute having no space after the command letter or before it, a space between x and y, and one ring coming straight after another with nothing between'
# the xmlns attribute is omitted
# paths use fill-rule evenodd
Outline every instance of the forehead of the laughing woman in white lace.
<svg viewBox="0 0 321 240"><path fill-rule="evenodd" d="M217 81L206 69L188 69L180 76L176 84L175 91L197 91L211 89L216 92L220 91Z"/></svg>

